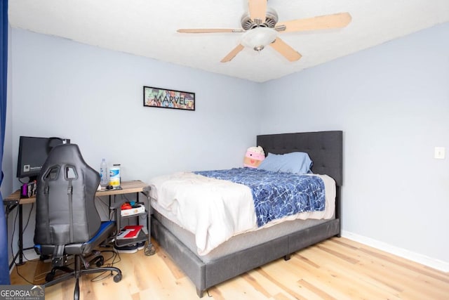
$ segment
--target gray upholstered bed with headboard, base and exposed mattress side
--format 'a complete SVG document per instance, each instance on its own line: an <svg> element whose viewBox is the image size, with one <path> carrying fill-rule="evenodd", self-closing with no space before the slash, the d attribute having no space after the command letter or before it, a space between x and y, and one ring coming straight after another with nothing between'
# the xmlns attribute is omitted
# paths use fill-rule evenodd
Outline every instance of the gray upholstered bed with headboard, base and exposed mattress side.
<svg viewBox="0 0 449 300"><path fill-rule="evenodd" d="M248 270L282 257L288 260L293 252L340 236L342 131L260 135L257 145L265 153L307 152L313 161L311 171L326 174L335 181L335 209L329 219L290 219L234 235L212 251L200 255L196 251L194 234L173 221L152 195L152 237L192 280L199 297L206 289Z"/></svg>

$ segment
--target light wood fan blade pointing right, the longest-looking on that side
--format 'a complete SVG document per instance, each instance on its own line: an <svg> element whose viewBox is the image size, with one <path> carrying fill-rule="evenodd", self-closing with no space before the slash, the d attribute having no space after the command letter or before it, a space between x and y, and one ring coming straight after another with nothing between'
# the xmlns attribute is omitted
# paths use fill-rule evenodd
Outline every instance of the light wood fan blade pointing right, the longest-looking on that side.
<svg viewBox="0 0 449 300"><path fill-rule="evenodd" d="M334 15L321 15L319 17L278 22L276 27L285 25L286 30L280 32L298 32L307 30L323 30L341 28L351 22L349 13L335 13Z"/></svg>

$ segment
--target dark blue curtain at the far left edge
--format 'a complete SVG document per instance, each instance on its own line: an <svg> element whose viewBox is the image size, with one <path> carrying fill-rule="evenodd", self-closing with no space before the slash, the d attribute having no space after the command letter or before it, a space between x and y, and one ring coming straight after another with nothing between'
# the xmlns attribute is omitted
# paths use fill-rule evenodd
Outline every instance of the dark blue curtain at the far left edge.
<svg viewBox="0 0 449 300"><path fill-rule="evenodd" d="M1 147L0 147L0 170L1 161L3 158L3 148L5 143L5 126L6 126L6 89L8 81L8 0L1 1L1 24L0 24L0 134L1 134ZM0 174L0 186L3 181L3 171ZM11 283L9 279L9 266L8 266L8 229L6 228L5 210L3 206L3 197L0 192L0 202L2 203L0 209L0 285L9 285Z"/></svg>

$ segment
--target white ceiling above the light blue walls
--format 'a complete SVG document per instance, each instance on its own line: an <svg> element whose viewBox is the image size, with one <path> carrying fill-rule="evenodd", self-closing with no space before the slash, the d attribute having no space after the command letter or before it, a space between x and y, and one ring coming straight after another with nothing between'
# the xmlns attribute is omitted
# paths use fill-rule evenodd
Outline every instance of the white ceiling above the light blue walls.
<svg viewBox="0 0 449 300"><path fill-rule="evenodd" d="M449 0L269 0L279 21L349 12L347 27L279 34L302 54L245 48L220 63L242 33L181 34L178 28L241 28L247 0L10 0L9 22L32 32L263 82L449 22Z"/></svg>

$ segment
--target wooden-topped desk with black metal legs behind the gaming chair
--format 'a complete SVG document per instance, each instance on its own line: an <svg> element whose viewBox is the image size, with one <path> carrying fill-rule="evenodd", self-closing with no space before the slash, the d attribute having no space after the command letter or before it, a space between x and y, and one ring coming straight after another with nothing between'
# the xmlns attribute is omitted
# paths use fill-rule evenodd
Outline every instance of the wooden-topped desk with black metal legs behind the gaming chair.
<svg viewBox="0 0 449 300"><path fill-rule="evenodd" d="M95 193L95 197L103 197L103 196L115 196L115 195L123 195L123 194L130 194L130 193L143 193L145 196L149 197L149 186L146 183L143 183L142 181L122 181L120 183L121 189L117 190L98 190L97 193ZM110 200L110 198L109 198ZM13 262L9 266L13 266L15 263L15 260L19 256L19 263L20 266L23 264L23 211L22 211L22 205L23 204L32 204L36 202L36 196L32 196L29 198L20 198L20 190L16 190L14 193L9 195L8 197L4 198L3 204L6 206L5 213L6 213L6 220L8 220L8 214L15 209L15 207L18 207L19 209L19 251L17 254L15 254L13 258ZM149 202L148 202L149 205ZM109 204L110 207L110 204ZM147 207L149 209L149 207ZM148 212L149 216L149 212ZM8 221L6 221L8 222ZM148 228L148 244L147 247L150 249L150 252L152 251L152 244L150 239L150 222L147 220L147 228ZM154 253L154 252L153 252Z"/></svg>

